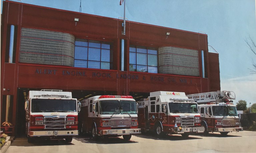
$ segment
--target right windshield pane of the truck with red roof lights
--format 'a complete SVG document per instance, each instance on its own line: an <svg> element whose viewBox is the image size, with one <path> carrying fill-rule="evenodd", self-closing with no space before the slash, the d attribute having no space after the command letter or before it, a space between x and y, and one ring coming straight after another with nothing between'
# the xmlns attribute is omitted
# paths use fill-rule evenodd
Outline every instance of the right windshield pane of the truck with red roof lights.
<svg viewBox="0 0 256 153"><path fill-rule="evenodd" d="M120 100L122 114L136 114L136 102L130 100Z"/></svg>

